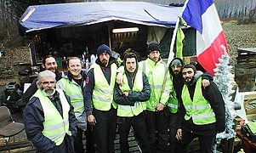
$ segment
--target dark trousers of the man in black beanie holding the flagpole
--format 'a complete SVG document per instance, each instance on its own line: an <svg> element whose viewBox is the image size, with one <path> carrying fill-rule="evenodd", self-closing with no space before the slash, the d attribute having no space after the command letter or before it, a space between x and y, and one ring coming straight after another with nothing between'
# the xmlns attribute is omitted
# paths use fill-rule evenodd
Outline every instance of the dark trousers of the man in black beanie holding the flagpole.
<svg viewBox="0 0 256 153"><path fill-rule="evenodd" d="M145 111L145 122L153 152L166 150L168 144L168 108L163 111Z"/></svg>

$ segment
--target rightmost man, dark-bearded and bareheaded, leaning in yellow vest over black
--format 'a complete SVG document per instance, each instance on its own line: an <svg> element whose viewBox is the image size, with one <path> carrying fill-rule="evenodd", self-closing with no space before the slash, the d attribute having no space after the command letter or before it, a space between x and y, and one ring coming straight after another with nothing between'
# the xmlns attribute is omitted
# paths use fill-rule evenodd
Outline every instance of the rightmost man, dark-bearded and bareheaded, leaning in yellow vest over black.
<svg viewBox="0 0 256 153"><path fill-rule="evenodd" d="M202 87L202 77L196 78L196 67L185 65L176 138L179 147L176 152L186 152L187 145L199 139L201 152L213 153L216 133L225 130L225 102L214 82Z"/></svg>

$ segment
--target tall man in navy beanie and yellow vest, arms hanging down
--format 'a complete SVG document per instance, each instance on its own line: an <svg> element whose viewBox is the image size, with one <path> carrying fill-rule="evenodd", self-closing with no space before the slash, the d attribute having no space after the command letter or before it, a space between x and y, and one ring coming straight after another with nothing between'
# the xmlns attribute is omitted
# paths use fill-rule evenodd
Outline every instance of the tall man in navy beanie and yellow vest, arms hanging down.
<svg viewBox="0 0 256 153"><path fill-rule="evenodd" d="M98 59L91 65L86 78L85 110L88 123L93 126L97 153L113 153L117 126L117 104L113 89L117 76L116 59L111 49L102 44Z"/></svg>

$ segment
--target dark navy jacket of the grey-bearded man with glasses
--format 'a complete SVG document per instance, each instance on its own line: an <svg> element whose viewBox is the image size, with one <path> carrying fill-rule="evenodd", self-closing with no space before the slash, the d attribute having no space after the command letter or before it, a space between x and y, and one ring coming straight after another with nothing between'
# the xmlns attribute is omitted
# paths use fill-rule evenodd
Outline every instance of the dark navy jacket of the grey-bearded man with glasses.
<svg viewBox="0 0 256 153"><path fill-rule="evenodd" d="M65 95L65 97L70 103L70 98L67 95ZM43 136L44 113L43 107L38 98L32 98L28 102L23 113L23 120L27 139L31 140L31 142L37 147L37 150L40 150L41 152L54 152L56 149L61 150L58 146L55 146L53 141ZM69 123L69 129L72 133L72 137L68 135L65 136L65 139L69 140L68 144L65 144L65 147L67 148L73 145L74 138L77 135L77 119L72 105L71 110L69 111Z"/></svg>

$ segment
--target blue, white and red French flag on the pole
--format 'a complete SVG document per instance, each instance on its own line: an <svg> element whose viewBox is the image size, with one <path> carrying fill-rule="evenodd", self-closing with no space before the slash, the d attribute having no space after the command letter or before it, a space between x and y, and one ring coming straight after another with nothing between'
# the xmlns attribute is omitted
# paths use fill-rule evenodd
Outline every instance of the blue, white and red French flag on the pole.
<svg viewBox="0 0 256 153"><path fill-rule="evenodd" d="M213 69L227 50L225 35L213 0L188 0L182 18L196 29L196 56L202 67L214 76Z"/></svg>

